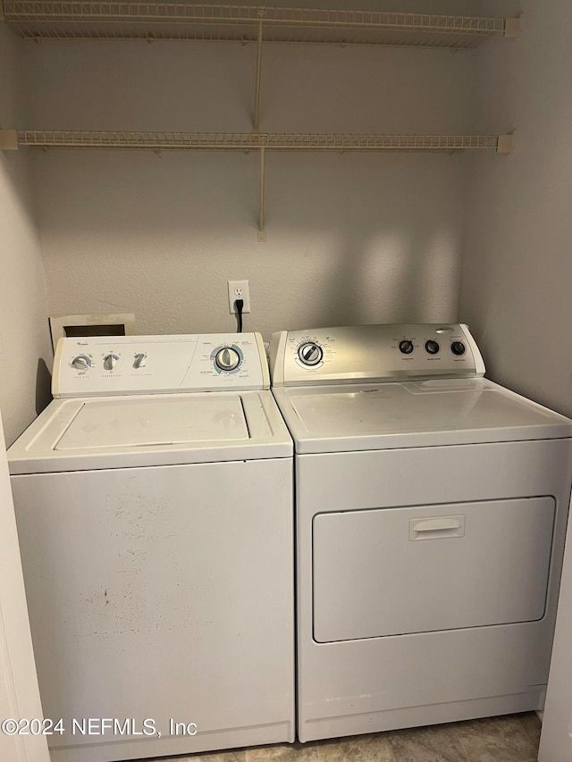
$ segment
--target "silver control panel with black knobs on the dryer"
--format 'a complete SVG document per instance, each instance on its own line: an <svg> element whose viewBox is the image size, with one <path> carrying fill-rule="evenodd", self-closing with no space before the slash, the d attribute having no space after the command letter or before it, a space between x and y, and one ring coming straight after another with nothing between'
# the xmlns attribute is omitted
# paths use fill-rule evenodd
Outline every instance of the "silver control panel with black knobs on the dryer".
<svg viewBox="0 0 572 762"><path fill-rule="evenodd" d="M273 386L474 378L484 362L467 325L396 323L274 333Z"/></svg>

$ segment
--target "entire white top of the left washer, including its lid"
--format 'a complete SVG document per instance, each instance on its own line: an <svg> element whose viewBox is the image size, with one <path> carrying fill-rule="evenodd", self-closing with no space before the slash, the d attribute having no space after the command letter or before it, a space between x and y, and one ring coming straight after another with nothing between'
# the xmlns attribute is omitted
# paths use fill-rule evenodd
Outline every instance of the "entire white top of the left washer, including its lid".
<svg viewBox="0 0 572 762"><path fill-rule="evenodd" d="M291 457L268 390L57 399L8 449L10 473Z"/></svg>

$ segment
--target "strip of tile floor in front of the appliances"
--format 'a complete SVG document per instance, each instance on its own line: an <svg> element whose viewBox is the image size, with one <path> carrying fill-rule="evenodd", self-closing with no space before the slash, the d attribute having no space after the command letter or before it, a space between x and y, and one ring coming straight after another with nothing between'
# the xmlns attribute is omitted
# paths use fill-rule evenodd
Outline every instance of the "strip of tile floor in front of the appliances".
<svg viewBox="0 0 572 762"><path fill-rule="evenodd" d="M536 762L540 727L527 713L156 762Z"/></svg>

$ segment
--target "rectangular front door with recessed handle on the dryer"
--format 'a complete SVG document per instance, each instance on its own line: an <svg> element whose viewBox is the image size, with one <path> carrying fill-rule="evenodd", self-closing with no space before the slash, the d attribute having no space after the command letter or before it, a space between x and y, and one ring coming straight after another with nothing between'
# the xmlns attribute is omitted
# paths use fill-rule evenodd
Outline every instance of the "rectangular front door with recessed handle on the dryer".
<svg viewBox="0 0 572 762"><path fill-rule="evenodd" d="M542 619L554 513L543 497L316 515L315 641Z"/></svg>

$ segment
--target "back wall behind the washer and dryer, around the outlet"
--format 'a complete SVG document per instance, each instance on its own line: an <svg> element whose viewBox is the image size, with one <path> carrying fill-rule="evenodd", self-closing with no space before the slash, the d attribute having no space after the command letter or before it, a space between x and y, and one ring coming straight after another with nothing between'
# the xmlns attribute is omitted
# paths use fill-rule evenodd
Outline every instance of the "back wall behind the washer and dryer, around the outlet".
<svg viewBox="0 0 572 762"><path fill-rule="evenodd" d="M251 129L255 46L28 47L30 127ZM262 130L472 130L475 53L264 50ZM495 157L496 158L496 157ZM226 280L250 281L245 330L457 317L467 156L34 155L54 314L134 312L140 333L229 331Z"/></svg>

